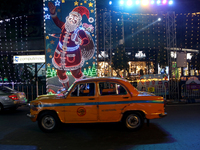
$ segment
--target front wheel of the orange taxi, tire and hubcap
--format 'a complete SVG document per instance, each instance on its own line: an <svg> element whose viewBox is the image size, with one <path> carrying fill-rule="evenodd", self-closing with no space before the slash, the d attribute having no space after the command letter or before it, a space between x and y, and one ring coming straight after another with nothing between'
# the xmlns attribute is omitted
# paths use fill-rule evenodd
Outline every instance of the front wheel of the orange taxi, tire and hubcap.
<svg viewBox="0 0 200 150"><path fill-rule="evenodd" d="M43 132L53 132L60 125L60 120L54 112L46 111L39 115L38 126Z"/></svg>

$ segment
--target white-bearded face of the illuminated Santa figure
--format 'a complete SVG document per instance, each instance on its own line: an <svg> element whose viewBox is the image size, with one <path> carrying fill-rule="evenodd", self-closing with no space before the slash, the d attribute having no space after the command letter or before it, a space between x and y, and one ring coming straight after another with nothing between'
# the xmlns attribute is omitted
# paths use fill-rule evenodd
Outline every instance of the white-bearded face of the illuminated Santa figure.
<svg viewBox="0 0 200 150"><path fill-rule="evenodd" d="M81 25L81 18L76 14L69 14L66 17L65 28L68 32L76 30Z"/></svg>

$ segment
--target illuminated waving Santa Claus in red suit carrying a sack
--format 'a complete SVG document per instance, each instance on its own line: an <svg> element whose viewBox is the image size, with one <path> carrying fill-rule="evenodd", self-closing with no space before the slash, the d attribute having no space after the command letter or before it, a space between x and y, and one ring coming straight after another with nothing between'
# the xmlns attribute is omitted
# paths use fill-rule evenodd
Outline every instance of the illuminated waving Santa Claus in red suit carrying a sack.
<svg viewBox="0 0 200 150"><path fill-rule="evenodd" d="M75 7L66 17L66 22L58 19L56 7L48 3L54 23L61 29L58 45L55 49L52 63L57 69L57 76L64 87L69 87L66 71L70 70L75 79L84 77L81 68L86 60L93 57L95 47L89 32L94 31L92 25L82 24L82 16L86 15L90 22L89 10L84 6Z"/></svg>

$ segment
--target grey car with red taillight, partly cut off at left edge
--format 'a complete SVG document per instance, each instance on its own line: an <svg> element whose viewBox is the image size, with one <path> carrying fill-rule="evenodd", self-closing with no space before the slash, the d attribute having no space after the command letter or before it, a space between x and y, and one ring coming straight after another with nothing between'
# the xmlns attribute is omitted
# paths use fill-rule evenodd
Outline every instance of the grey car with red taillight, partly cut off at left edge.
<svg viewBox="0 0 200 150"><path fill-rule="evenodd" d="M27 104L27 99L24 92L0 86L0 112L4 109L17 109L25 104Z"/></svg>

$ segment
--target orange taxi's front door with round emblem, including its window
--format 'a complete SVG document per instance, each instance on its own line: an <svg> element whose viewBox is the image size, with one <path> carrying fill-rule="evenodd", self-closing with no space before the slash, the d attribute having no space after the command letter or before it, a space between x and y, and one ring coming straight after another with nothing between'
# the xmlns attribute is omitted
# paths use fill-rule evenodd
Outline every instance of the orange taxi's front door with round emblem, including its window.
<svg viewBox="0 0 200 150"><path fill-rule="evenodd" d="M66 98L66 122L97 121L97 94L95 82L76 84Z"/></svg>

